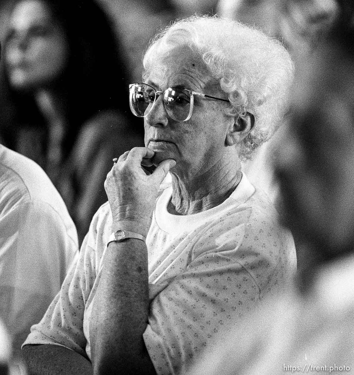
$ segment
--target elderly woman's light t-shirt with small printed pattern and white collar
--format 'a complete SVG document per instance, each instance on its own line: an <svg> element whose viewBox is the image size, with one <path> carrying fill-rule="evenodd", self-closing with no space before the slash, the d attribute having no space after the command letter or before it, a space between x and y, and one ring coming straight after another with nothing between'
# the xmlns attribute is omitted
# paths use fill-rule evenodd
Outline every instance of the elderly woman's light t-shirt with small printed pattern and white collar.
<svg viewBox="0 0 354 375"><path fill-rule="evenodd" d="M222 204L193 215L169 214L171 193L168 186L157 198L146 239L151 305L144 341L158 374L183 373L220 327L277 293L296 269L291 234L245 175ZM89 319L111 223L106 203L77 267L24 345L63 345L90 359Z"/></svg>

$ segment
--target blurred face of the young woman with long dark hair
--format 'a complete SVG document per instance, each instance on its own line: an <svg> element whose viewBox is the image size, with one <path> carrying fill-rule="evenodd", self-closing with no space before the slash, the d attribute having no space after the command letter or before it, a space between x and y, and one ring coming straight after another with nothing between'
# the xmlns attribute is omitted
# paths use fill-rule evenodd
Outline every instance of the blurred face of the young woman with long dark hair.
<svg viewBox="0 0 354 375"><path fill-rule="evenodd" d="M68 42L62 28L40 0L24 0L13 10L5 64L14 89L51 83L65 69Z"/></svg>

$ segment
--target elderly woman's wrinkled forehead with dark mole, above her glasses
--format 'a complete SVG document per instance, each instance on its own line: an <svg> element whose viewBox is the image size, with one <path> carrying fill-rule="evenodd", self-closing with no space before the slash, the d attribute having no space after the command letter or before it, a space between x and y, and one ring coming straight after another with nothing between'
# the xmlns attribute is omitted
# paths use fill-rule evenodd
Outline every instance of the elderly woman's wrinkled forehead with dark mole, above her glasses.
<svg viewBox="0 0 354 375"><path fill-rule="evenodd" d="M188 46L175 47L163 56L156 56L145 77L159 90L180 85L198 91L213 81L200 56Z"/></svg>

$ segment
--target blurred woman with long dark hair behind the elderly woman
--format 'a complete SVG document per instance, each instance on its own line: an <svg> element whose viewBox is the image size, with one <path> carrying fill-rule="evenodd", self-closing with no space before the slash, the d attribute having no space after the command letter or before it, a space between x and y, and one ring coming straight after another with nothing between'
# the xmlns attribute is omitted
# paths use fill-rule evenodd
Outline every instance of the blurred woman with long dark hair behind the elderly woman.
<svg viewBox="0 0 354 375"><path fill-rule="evenodd" d="M117 41L92 0L17 0L9 18L1 138L47 172L81 242L109 161L142 144Z"/></svg>

